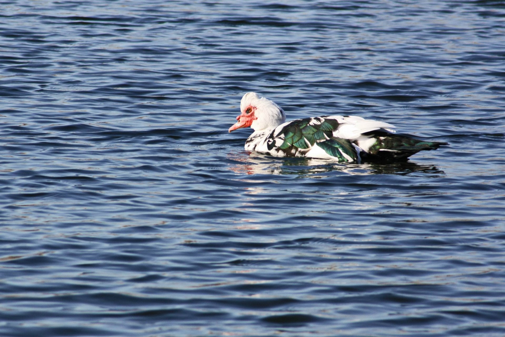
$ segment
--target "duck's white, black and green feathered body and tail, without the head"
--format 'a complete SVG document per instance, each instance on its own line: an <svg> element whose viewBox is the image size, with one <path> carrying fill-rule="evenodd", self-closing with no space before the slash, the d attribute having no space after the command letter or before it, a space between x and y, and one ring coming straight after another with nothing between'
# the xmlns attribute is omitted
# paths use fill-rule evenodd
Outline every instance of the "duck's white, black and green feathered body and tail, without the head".
<svg viewBox="0 0 505 337"><path fill-rule="evenodd" d="M394 126L358 116L320 116L295 119L271 132L255 132L245 149L278 156L333 158L339 161L407 158L446 143L424 142L396 135Z"/></svg>

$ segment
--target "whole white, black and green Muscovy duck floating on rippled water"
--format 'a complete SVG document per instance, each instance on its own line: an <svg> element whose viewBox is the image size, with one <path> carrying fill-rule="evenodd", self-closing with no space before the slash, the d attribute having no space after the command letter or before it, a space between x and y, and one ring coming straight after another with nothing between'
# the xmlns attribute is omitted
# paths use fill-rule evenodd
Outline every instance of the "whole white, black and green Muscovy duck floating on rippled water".
<svg viewBox="0 0 505 337"><path fill-rule="evenodd" d="M279 157L309 157L339 162L406 160L445 142L425 141L396 134L394 125L360 116L328 115L286 122L286 113L255 92L243 95L240 115L228 132L250 127L246 151Z"/></svg>

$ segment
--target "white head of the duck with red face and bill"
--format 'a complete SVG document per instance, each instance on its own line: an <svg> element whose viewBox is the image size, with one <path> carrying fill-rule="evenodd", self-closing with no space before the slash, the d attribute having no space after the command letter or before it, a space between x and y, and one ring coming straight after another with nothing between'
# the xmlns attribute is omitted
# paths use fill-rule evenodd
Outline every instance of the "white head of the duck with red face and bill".
<svg viewBox="0 0 505 337"><path fill-rule="evenodd" d="M238 121L228 132L246 127L255 131L272 130L286 120L286 114L280 106L265 97L260 98L257 93L247 93L242 97L240 112Z"/></svg>

